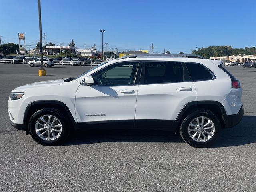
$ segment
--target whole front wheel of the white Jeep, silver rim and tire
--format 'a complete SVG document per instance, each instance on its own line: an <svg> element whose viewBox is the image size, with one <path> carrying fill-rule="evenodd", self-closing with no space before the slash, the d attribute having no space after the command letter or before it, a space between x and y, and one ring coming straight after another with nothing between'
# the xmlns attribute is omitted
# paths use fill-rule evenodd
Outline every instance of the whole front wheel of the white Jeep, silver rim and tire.
<svg viewBox="0 0 256 192"><path fill-rule="evenodd" d="M52 146L64 142L70 133L70 124L62 111L44 108L35 112L29 120L28 130L39 144Z"/></svg>

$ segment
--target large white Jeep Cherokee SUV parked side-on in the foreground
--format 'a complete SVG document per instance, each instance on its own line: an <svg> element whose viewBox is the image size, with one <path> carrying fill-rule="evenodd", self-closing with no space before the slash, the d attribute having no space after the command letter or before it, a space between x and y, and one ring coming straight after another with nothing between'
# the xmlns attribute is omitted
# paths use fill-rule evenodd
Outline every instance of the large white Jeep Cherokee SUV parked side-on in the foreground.
<svg viewBox="0 0 256 192"><path fill-rule="evenodd" d="M73 130L157 129L180 132L206 147L244 114L242 88L222 61L199 56L126 56L76 78L18 87L10 93L11 124L43 145Z"/></svg>

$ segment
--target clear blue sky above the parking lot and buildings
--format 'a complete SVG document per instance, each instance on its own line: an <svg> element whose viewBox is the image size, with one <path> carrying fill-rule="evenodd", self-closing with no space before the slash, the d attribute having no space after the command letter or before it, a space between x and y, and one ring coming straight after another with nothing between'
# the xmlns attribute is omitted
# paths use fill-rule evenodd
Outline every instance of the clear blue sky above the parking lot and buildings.
<svg viewBox="0 0 256 192"><path fill-rule="evenodd" d="M172 54L207 46L256 46L256 0L41 0L46 43ZM39 40L38 0L0 0L2 44ZM21 41L21 44L24 42ZM43 42L44 43L44 42Z"/></svg>

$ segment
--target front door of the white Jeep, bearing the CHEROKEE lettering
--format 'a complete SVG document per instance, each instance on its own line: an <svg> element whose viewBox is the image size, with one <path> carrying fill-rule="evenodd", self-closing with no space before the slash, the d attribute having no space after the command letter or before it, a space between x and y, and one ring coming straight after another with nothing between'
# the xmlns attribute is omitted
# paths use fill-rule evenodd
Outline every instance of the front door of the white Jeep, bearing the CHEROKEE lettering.
<svg viewBox="0 0 256 192"><path fill-rule="evenodd" d="M120 62L92 74L94 85L76 92L78 122L133 126L138 91L139 62Z"/></svg>

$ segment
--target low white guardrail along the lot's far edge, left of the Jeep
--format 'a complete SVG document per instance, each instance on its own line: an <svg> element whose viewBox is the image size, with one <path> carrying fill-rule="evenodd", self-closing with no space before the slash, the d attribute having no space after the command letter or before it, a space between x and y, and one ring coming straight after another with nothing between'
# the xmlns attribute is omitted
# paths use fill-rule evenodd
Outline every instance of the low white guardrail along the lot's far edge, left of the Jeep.
<svg viewBox="0 0 256 192"><path fill-rule="evenodd" d="M11 64L28 64L28 62L34 60L23 60L23 59L0 59L0 63L11 63ZM88 62L88 61L79 61L73 63L72 61L54 61L54 65L81 65L81 66L97 66L103 62Z"/></svg>

